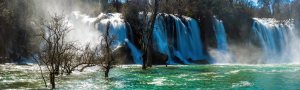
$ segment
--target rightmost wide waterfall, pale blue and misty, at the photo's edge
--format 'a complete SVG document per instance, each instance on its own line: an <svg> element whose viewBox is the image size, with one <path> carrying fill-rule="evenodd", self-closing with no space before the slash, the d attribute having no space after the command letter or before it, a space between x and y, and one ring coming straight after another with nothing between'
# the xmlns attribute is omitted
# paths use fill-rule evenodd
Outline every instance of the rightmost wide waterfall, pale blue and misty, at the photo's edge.
<svg viewBox="0 0 300 90"><path fill-rule="evenodd" d="M299 63L300 43L293 20L284 24L275 19L254 18L254 39L259 40L264 63Z"/></svg>

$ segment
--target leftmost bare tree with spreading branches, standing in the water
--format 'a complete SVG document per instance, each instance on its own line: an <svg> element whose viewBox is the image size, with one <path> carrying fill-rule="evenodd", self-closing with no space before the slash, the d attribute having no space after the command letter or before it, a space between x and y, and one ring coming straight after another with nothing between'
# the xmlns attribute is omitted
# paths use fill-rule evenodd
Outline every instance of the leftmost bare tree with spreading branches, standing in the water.
<svg viewBox="0 0 300 90"><path fill-rule="evenodd" d="M41 18L40 26L41 34L39 35L44 42L38 53L39 60L49 71L50 84L55 88L55 75L58 75L59 68L63 61L69 59L70 53L74 48L73 42L65 40L66 35L71 29L67 26L63 15L54 14L50 20Z"/></svg>

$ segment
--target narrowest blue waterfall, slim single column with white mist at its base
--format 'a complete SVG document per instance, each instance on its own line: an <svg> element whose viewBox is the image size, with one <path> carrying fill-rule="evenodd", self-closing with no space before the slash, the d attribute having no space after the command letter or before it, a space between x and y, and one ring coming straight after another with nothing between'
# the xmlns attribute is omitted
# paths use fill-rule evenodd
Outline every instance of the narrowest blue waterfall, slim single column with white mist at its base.
<svg viewBox="0 0 300 90"><path fill-rule="evenodd" d="M210 50L209 54L214 63L234 63L233 56L228 52L226 33L222 21L214 19L213 29L215 31L218 48L217 50Z"/></svg>

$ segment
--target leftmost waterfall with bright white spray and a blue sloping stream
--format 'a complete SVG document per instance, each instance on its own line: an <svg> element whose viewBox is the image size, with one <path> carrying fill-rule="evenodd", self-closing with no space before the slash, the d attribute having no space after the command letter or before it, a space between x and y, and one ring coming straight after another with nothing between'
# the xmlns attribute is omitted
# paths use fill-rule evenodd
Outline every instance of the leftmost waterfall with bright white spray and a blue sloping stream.
<svg viewBox="0 0 300 90"><path fill-rule="evenodd" d="M132 33L131 28L127 28L126 23L121 19L120 13L113 14L100 14L98 17L91 18L87 15L80 14L75 11L70 15L69 26L73 30L67 35L69 40L77 41L80 44L90 44L91 47L96 47L100 44L101 34L106 30L107 23L110 22L110 33L111 35L117 35L117 44L114 45L117 48L120 44L126 43L131 49L131 54L135 63L141 64L141 53L140 51L131 43L133 42L133 37L127 35L127 30ZM128 41L128 37L130 41Z"/></svg>

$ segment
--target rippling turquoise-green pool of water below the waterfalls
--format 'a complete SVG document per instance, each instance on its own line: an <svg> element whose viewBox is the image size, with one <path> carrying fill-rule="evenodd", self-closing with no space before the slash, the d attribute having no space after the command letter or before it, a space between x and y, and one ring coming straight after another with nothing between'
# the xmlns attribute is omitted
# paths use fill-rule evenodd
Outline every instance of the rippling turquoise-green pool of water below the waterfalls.
<svg viewBox="0 0 300 90"><path fill-rule="evenodd" d="M123 65L57 76L59 89L300 89L300 65ZM0 89L45 89L37 65L0 65Z"/></svg>

